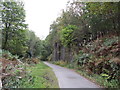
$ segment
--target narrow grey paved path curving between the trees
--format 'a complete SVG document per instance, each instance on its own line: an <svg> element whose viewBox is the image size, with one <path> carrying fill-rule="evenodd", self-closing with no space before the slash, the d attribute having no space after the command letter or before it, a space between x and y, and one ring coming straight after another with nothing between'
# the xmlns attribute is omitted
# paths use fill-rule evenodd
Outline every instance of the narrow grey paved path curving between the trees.
<svg viewBox="0 0 120 90"><path fill-rule="evenodd" d="M48 62L44 63L53 69L58 78L60 88L99 88L99 86L70 69L50 64Z"/></svg>

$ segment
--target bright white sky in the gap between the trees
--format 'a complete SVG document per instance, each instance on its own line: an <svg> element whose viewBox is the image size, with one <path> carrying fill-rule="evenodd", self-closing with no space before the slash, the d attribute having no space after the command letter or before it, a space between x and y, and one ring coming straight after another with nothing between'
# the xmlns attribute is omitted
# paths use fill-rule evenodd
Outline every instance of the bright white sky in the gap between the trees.
<svg viewBox="0 0 120 90"><path fill-rule="evenodd" d="M23 0L26 10L28 28L40 39L49 34L50 24L66 8L68 0Z"/></svg>

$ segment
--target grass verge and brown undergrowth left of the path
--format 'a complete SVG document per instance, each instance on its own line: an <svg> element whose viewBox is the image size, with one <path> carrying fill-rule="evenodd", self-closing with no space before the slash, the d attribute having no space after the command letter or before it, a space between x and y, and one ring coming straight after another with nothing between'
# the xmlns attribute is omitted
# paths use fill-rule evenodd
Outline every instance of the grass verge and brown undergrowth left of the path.
<svg viewBox="0 0 120 90"><path fill-rule="evenodd" d="M0 76L3 88L58 88L52 69L37 58L18 59L7 51L2 52Z"/></svg>

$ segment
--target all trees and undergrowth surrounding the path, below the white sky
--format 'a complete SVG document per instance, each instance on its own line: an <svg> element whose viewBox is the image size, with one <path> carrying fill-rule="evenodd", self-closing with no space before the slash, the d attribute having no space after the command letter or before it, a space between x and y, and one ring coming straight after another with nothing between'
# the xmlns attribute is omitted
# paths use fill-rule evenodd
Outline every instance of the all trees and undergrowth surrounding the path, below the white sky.
<svg viewBox="0 0 120 90"><path fill-rule="evenodd" d="M0 2L0 8L2 58L70 64L105 77L110 84L103 86L120 85L119 2L68 2L45 40L25 23L24 3Z"/></svg>

